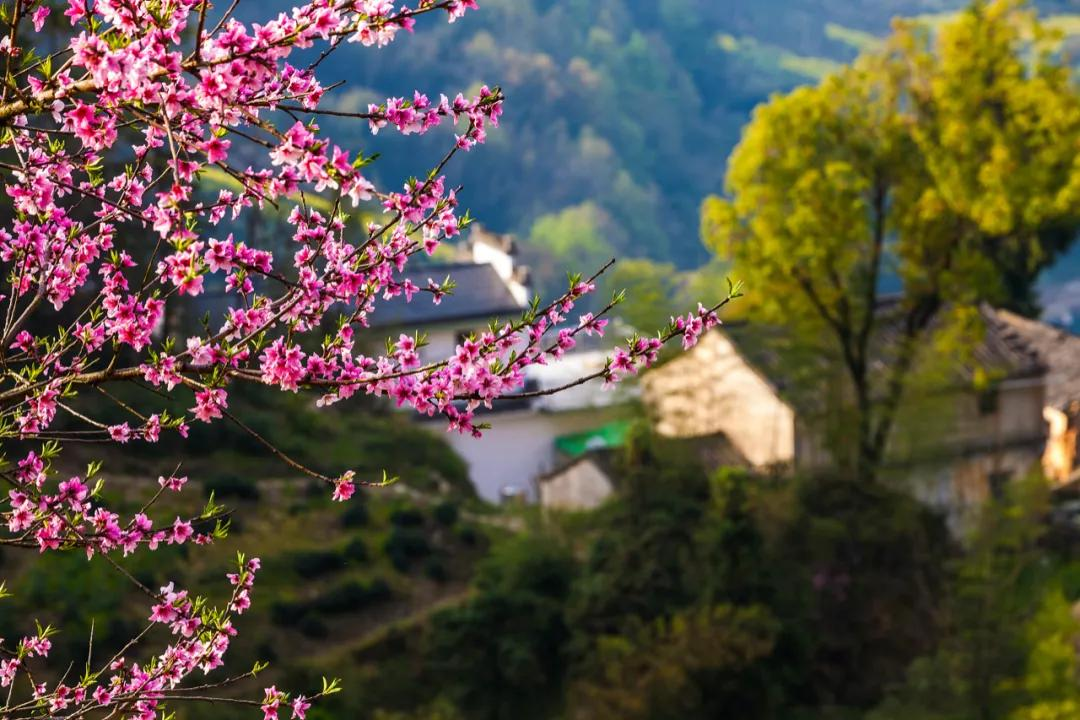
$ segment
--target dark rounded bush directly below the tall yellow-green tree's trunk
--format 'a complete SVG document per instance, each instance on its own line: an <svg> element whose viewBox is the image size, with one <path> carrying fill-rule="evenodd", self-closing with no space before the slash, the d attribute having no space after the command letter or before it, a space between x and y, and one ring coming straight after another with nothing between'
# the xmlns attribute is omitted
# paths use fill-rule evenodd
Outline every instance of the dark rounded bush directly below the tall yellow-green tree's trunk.
<svg viewBox="0 0 1080 720"><path fill-rule="evenodd" d="M941 626L946 560L940 516L885 484L809 477L769 553L769 602L783 622L777 667L793 704L872 707ZM780 503L779 492L770 502Z"/></svg>

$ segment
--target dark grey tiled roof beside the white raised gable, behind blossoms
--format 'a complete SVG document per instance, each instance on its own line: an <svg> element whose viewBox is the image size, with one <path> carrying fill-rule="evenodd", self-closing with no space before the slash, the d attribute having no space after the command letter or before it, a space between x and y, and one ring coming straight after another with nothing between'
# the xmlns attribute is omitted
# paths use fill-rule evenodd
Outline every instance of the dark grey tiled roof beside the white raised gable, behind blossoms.
<svg viewBox="0 0 1080 720"><path fill-rule="evenodd" d="M411 280L419 287L427 287L428 280L442 283L449 275L457 283L451 295L443 297L437 305L431 295L418 293L411 302L404 296L378 301L372 313L374 327L422 327L464 320L486 321L492 317L509 320L522 312L510 288L489 264L455 262L408 268L396 280Z"/></svg>

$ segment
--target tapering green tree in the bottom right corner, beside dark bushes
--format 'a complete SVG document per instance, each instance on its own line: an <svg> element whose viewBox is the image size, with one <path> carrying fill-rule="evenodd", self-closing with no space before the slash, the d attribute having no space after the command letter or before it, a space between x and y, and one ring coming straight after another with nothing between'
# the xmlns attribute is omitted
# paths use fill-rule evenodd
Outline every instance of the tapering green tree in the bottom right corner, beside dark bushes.
<svg viewBox="0 0 1080 720"><path fill-rule="evenodd" d="M1058 684L1075 669L1075 649L1063 643L1076 627L1039 546L1048 500L1045 481L1028 478L983 508L949 572L935 652L912 665L872 720L1034 720L1076 701L1075 677L1072 692Z"/></svg>

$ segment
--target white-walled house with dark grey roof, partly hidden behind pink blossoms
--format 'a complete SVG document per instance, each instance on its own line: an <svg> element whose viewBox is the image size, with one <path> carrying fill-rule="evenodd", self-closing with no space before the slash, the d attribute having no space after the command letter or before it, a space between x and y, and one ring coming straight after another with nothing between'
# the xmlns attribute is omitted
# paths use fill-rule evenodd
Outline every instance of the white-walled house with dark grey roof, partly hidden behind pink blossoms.
<svg viewBox="0 0 1080 720"><path fill-rule="evenodd" d="M528 304L528 273L516 262L510 235L473 226L455 261L409 266L401 279L424 287L428 279L442 282L447 275L457 286L440 304L426 296L417 296L411 302L399 297L379 307L373 325L389 335L414 330L424 334L428 345L421 349L421 358L441 359L451 355L471 332L486 328L492 318L515 318ZM582 349L558 362L530 366L526 370L526 390L542 391L572 382L603 369L606 357L599 349ZM591 448L616 441L612 427L627 417L629 403L636 393L633 383L605 391L594 382L553 395L502 400L491 410L482 411L480 421L491 423L483 437L458 433L444 436L465 461L470 479L482 498L535 502L539 498L537 479L575 457L568 449L577 447L577 438L592 436ZM440 420L421 421L433 432L443 432Z"/></svg>

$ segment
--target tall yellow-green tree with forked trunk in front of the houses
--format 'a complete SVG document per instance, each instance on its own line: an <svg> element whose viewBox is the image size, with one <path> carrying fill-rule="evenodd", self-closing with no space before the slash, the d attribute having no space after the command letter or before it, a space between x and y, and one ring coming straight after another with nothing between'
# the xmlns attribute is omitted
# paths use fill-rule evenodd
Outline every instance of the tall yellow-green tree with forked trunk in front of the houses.
<svg viewBox="0 0 1080 720"><path fill-rule="evenodd" d="M859 477L876 477L949 309L1024 305L1077 226L1080 99L1050 40L1017 0L976 1L934 33L899 24L882 50L759 107L729 199L704 203L704 239L757 310L845 378L852 439L836 460ZM882 312L889 283L901 297Z"/></svg>

